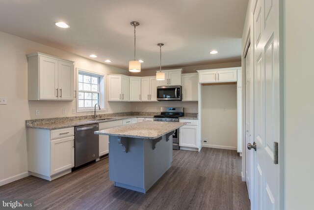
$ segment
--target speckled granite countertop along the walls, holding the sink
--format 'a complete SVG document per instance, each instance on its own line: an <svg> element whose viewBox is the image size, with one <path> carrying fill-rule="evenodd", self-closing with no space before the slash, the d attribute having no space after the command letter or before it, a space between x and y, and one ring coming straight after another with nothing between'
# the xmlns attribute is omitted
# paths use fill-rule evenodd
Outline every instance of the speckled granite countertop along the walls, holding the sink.
<svg viewBox="0 0 314 210"><path fill-rule="evenodd" d="M103 114L97 115L97 119L93 119L93 115L88 116L75 116L75 117L65 117L65 118L49 118L49 119L37 119L37 120L26 120L27 128L38 128L38 129L47 129L55 130L67 127L74 127L80 125L110 122L116 120L125 120L130 118L153 118L154 115L160 113L154 112L127 112L127 113L112 113L112 114ZM110 119L108 119L110 118ZM104 120L102 120L104 119ZM105 120L108 119L108 120ZM196 113L186 113L185 116L180 119L189 119L197 120Z"/></svg>

